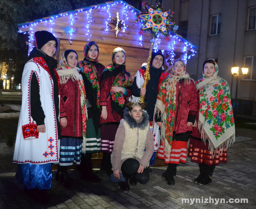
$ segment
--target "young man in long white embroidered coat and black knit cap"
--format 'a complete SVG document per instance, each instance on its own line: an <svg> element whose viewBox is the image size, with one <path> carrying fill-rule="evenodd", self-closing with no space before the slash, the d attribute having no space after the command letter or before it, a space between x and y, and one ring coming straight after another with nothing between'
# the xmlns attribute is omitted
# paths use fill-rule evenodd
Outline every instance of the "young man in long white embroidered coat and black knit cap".
<svg viewBox="0 0 256 209"><path fill-rule="evenodd" d="M59 162L59 83L57 39L47 31L35 33L37 47L22 74L22 105L13 163L25 190L45 191L52 184L52 163Z"/></svg>

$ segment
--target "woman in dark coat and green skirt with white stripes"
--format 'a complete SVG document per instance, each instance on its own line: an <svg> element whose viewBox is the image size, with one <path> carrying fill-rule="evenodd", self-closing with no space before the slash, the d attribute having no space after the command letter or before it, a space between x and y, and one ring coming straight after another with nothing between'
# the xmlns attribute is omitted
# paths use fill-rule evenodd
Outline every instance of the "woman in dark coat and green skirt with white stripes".
<svg viewBox="0 0 256 209"><path fill-rule="evenodd" d="M100 178L92 172L92 153L100 152L100 76L105 66L99 63L99 47L91 41L84 46L84 60L78 63L84 79L86 107L88 113L85 147L81 159L81 178L99 182Z"/></svg>

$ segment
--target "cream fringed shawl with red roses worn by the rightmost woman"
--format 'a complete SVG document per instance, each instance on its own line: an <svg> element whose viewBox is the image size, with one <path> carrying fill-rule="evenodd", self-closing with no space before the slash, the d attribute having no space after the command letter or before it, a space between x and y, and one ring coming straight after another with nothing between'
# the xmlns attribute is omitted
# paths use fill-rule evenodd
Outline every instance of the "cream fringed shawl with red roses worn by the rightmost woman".
<svg viewBox="0 0 256 209"><path fill-rule="evenodd" d="M232 103L227 81L218 76L218 65L214 61L214 73L196 81L200 90L199 121L201 138L209 140L209 149L215 156L219 148L228 148L235 141L235 125Z"/></svg>

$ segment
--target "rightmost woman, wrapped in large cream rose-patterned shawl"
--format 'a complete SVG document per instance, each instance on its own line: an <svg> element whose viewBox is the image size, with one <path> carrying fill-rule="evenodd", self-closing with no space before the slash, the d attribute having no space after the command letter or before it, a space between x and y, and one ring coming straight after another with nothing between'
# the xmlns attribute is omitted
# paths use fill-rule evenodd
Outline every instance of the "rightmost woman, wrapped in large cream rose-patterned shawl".
<svg viewBox="0 0 256 209"><path fill-rule="evenodd" d="M235 125L227 81L218 76L218 65L212 60L203 64L203 78L196 81L200 105L198 129L190 136L189 157L199 163L196 183L212 182L215 165L227 162L227 148L235 141Z"/></svg>

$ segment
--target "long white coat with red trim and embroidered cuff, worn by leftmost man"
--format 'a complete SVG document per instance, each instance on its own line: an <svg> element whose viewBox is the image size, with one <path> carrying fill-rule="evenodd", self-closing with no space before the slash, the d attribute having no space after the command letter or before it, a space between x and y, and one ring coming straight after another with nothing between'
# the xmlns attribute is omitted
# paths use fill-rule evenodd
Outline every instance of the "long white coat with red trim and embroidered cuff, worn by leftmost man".
<svg viewBox="0 0 256 209"><path fill-rule="evenodd" d="M38 133L36 122L31 117L30 81L33 72L36 73L39 84L40 101L45 115L45 133ZM32 58L25 64L21 83L22 105L13 162L32 164L58 163L59 146L56 120L59 120L59 116L56 116L55 112L53 80L49 68L42 57Z"/></svg>

